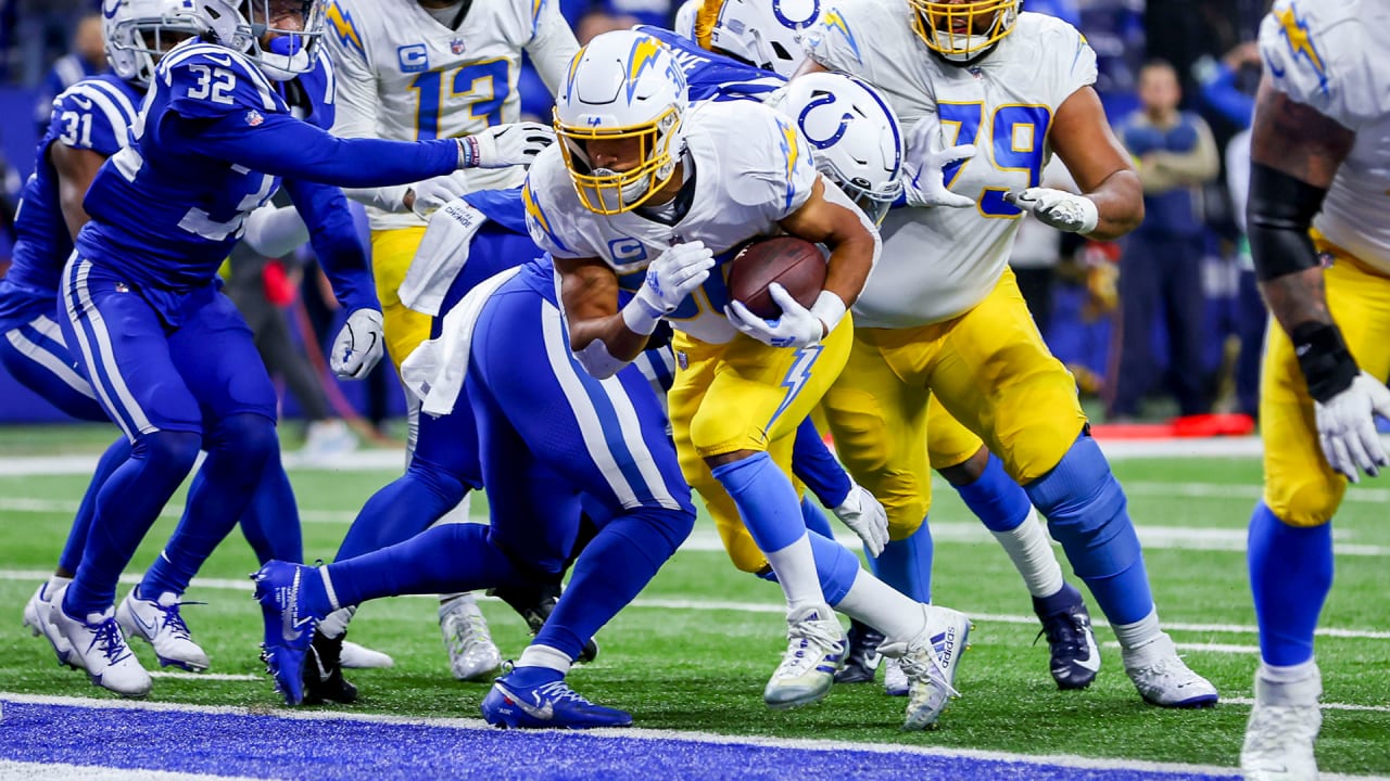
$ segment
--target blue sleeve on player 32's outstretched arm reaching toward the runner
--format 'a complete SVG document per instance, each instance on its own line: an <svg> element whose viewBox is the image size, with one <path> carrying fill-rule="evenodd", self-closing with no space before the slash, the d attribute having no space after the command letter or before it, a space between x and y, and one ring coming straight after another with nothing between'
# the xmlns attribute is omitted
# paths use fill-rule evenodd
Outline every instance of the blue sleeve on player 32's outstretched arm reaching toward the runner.
<svg viewBox="0 0 1390 781"><path fill-rule="evenodd" d="M171 120L165 120L171 121ZM181 125L185 149L252 171L339 188L418 182L459 168L459 142L339 139L288 114L265 114L256 126L242 115Z"/></svg>

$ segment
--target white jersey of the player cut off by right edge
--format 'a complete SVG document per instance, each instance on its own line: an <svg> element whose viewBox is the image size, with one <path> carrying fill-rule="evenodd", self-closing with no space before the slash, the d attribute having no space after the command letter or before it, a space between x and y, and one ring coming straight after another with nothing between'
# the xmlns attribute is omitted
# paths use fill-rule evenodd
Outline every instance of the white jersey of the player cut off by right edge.
<svg viewBox="0 0 1390 781"><path fill-rule="evenodd" d="M1275 89L1357 132L1314 227L1390 274L1390 25L1386 0L1280 0L1259 26Z"/></svg>

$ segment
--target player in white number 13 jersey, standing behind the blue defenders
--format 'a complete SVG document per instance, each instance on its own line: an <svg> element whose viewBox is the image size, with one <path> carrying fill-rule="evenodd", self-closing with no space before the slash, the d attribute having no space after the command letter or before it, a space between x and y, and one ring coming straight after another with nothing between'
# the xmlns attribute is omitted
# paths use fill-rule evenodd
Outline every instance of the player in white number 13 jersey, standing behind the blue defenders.
<svg viewBox="0 0 1390 781"><path fill-rule="evenodd" d="M534 124L509 131L496 126L520 118L517 78L523 53L531 56L555 92L578 49L557 0L332 0L327 21L325 40L339 74L334 133L343 138L473 136L481 145L512 149L528 138L549 135ZM386 354L398 368L430 338L430 317L403 306L398 295L424 238L425 217L464 192L513 188L523 176L517 167L475 176L439 176L411 186L346 190L367 204ZM411 402L411 446L414 407ZM467 504L460 509L466 514ZM500 663L500 655L482 613L471 595L442 599L439 621L453 675L464 681L485 678ZM509 598L537 606L542 600L539 593ZM342 618L346 616L329 625L336 627Z"/></svg>

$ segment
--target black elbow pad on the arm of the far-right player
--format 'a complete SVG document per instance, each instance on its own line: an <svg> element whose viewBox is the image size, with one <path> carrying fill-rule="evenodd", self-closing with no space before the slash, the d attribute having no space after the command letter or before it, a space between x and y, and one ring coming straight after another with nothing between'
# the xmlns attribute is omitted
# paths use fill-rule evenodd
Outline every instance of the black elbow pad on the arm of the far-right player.
<svg viewBox="0 0 1390 781"><path fill-rule="evenodd" d="M1327 190L1277 168L1251 164L1245 222L1255 277L1261 282L1318 265L1318 252L1308 228L1326 195Z"/></svg>

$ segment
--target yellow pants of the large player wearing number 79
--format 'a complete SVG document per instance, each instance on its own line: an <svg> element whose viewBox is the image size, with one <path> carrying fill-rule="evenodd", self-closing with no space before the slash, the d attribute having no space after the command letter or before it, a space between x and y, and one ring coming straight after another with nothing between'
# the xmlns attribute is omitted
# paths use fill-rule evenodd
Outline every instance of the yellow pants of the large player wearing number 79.
<svg viewBox="0 0 1390 781"><path fill-rule="evenodd" d="M965 461L983 441L1009 477L1029 484L1062 460L1086 424L1076 381L1048 352L1008 268L952 320L856 329L823 406L840 460L883 502L892 539L922 525L931 468ZM933 413L937 406L948 414Z"/></svg>

